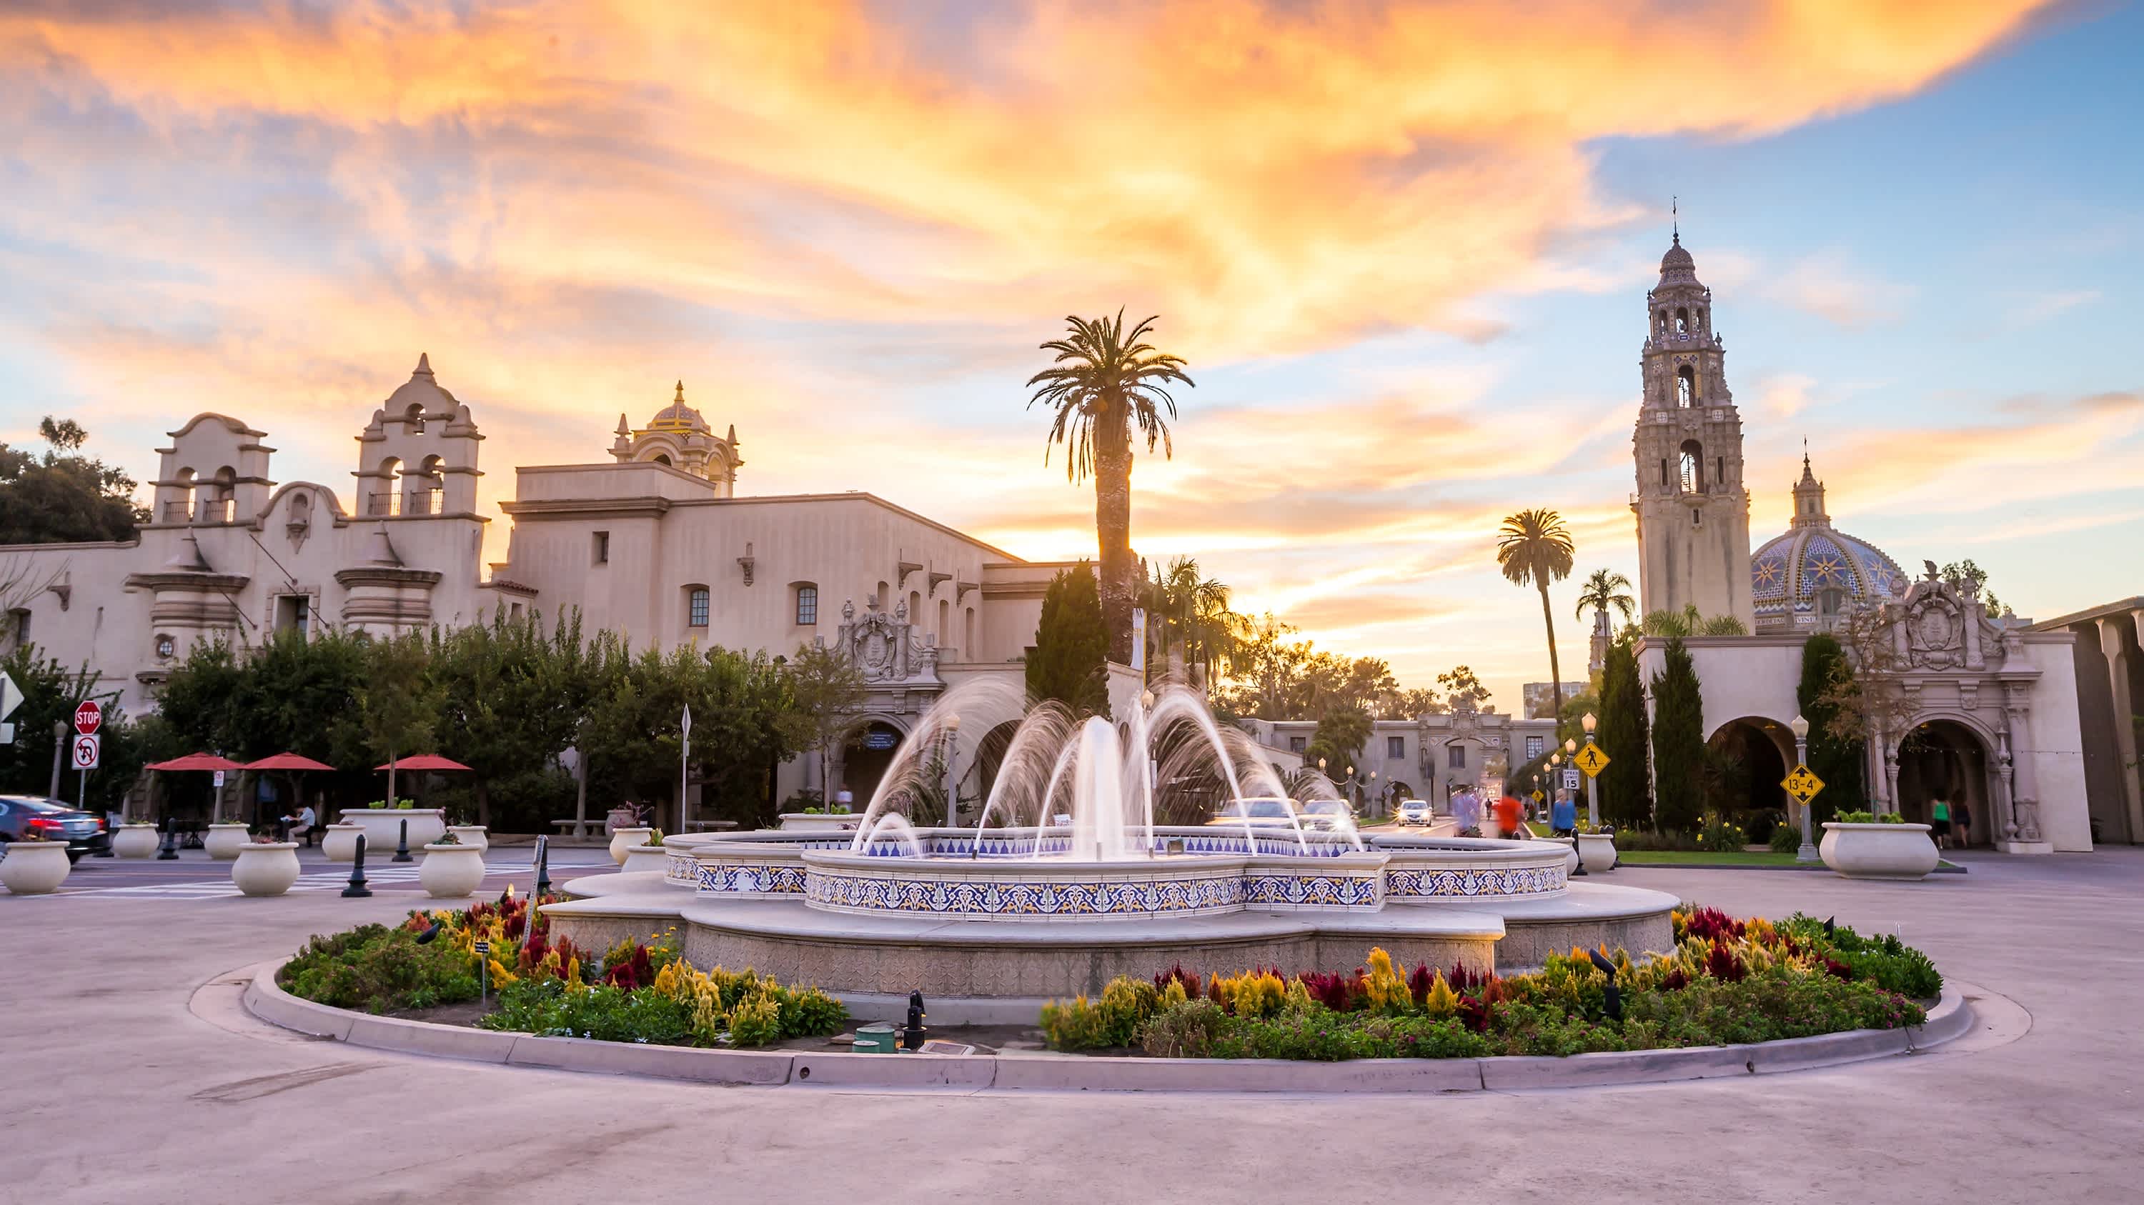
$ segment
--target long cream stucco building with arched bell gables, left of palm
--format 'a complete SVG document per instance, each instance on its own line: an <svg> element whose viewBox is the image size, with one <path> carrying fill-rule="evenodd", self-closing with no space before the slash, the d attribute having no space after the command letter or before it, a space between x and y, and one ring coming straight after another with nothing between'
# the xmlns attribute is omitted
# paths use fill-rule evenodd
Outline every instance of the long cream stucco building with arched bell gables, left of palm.
<svg viewBox="0 0 2144 1205"><path fill-rule="evenodd" d="M429 358L358 433L349 493L279 485L266 440L240 418L195 416L159 450L135 540L0 549L19 577L0 639L86 660L135 714L197 639L249 645L292 626L397 633L577 607L587 630L632 645L825 641L870 686L834 770L862 795L950 684L1023 675L1042 594L1066 568L870 493L740 495L735 429L714 435L682 384L645 427L620 416L587 463L517 467L506 560L491 566L482 433ZM1119 703L1136 693L1126 678L1113 673ZM785 768L778 789L806 785L810 763Z"/></svg>

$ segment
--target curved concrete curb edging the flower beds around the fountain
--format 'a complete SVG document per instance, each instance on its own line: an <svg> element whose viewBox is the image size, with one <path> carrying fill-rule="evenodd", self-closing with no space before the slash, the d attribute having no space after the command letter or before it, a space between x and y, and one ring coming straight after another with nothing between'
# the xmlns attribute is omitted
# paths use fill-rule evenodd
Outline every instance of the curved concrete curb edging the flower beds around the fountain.
<svg viewBox="0 0 2144 1205"><path fill-rule="evenodd" d="M247 1010L283 1029L373 1051L566 1072L637 1074L738 1087L847 1087L909 1091L1535 1091L1683 1083L1799 1072L1910 1055L1972 1029L1970 984L1945 984L1925 1025L1855 1029L1750 1046L1608 1051L1572 1057L1355 1059L1130 1059L1081 1055L851 1055L838 1051L705 1051L590 1038L536 1038L429 1021L367 1016L298 999L274 984L283 961L255 967ZM244 969L236 971L242 973ZM1977 988L1975 988L1977 991Z"/></svg>

